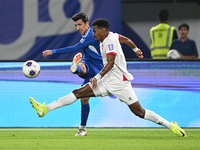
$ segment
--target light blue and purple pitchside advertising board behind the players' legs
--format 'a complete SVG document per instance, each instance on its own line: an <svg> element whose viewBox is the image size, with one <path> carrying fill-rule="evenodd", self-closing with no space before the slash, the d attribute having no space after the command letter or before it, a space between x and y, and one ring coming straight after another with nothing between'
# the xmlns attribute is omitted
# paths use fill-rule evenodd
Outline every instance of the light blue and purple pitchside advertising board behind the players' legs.
<svg viewBox="0 0 200 150"><path fill-rule="evenodd" d="M40 118L29 97L49 104L80 88L83 79L69 71L71 62L38 62L39 76L27 78L24 62L0 62L0 127L78 127L80 100ZM200 127L200 61L127 62L140 104L181 127ZM88 127L162 127L135 116L115 96L90 98Z"/></svg>

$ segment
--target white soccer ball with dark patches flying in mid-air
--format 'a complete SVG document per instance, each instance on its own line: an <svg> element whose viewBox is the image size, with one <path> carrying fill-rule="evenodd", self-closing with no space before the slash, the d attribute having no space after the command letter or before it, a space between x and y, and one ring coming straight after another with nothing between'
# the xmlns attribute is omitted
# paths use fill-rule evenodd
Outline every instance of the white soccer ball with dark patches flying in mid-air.
<svg viewBox="0 0 200 150"><path fill-rule="evenodd" d="M23 74L28 78L35 78L40 73L40 65L34 60L28 60L22 67Z"/></svg>

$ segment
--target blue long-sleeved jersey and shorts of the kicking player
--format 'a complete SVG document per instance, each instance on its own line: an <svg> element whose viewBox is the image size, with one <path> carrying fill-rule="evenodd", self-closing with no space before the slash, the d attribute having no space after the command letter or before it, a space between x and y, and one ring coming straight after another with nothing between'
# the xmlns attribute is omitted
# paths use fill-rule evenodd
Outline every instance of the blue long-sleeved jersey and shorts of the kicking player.
<svg viewBox="0 0 200 150"><path fill-rule="evenodd" d="M83 50L83 62L87 67L86 74L81 77L84 80L83 84L89 82L90 78L93 78L97 73L103 68L103 61L100 52L100 42L97 42L93 36L93 30L91 27L88 28L87 32L84 35L81 35L82 38L74 46L69 46L61 49L52 50L53 54L62 54L62 53L71 53L79 49Z"/></svg>

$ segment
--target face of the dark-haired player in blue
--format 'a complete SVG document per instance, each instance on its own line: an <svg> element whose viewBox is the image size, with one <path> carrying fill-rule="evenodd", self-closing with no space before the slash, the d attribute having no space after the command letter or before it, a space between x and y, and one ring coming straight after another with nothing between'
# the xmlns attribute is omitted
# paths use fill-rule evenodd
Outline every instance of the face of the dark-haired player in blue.
<svg viewBox="0 0 200 150"><path fill-rule="evenodd" d="M84 23L82 19L74 21L74 25L76 26L77 31L80 34L85 34L89 28L89 22Z"/></svg>

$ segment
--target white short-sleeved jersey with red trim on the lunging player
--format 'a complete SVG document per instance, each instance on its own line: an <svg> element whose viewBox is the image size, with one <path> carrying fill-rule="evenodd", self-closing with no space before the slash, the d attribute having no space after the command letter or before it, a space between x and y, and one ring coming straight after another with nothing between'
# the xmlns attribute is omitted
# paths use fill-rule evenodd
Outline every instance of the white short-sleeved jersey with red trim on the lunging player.
<svg viewBox="0 0 200 150"><path fill-rule="evenodd" d="M116 55L114 66L105 75L105 77L112 79L116 78L119 81L132 80L133 76L127 71L126 60L119 42L119 38L119 34L109 32L108 36L103 40L103 42L100 43L100 51L104 66L106 66L108 63L107 55Z"/></svg>

